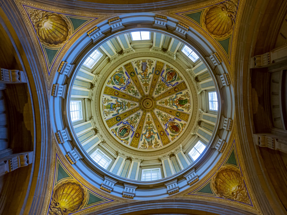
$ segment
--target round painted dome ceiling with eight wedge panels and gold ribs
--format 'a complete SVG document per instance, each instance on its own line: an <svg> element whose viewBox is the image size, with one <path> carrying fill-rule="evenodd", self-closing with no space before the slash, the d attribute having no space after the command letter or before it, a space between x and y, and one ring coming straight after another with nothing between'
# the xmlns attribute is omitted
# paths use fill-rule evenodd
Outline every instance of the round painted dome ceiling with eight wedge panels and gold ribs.
<svg viewBox="0 0 287 215"><path fill-rule="evenodd" d="M155 149L174 142L189 122L191 95L179 71L156 59L127 62L108 77L102 118L120 142Z"/></svg>

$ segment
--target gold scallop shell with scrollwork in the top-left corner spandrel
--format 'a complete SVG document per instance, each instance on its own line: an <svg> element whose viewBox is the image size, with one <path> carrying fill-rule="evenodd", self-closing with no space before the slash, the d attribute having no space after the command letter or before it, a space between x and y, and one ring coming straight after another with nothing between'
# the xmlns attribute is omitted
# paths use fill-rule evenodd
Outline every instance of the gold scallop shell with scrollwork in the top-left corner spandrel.
<svg viewBox="0 0 287 215"><path fill-rule="evenodd" d="M39 40L52 47L61 46L71 37L71 26L60 14L28 8Z"/></svg>

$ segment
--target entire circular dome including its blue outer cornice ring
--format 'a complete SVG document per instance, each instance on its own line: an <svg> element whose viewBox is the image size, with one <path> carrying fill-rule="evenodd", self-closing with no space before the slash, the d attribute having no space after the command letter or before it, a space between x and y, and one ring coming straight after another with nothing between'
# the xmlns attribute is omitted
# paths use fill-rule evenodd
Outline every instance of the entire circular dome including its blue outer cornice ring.
<svg viewBox="0 0 287 215"><path fill-rule="evenodd" d="M83 35L65 55L64 73L54 83L67 93L51 102L54 116L61 107L62 117L54 118L56 136L73 167L93 185L106 189L113 184L110 191L116 196L131 186L135 199L158 199L168 196L166 184L187 189L220 159L230 136L224 122L234 114L233 100L226 99L232 97L232 86L220 85L226 67L213 66L212 45L192 29L183 39L173 32L172 19L165 31L154 28L146 14L127 17L122 19L125 29L113 32L102 23L100 39ZM131 24L144 19L144 27ZM133 40L132 33L142 30L149 39ZM137 113L137 122L128 122ZM162 123L160 113L170 123ZM158 148L156 141L162 144Z"/></svg>

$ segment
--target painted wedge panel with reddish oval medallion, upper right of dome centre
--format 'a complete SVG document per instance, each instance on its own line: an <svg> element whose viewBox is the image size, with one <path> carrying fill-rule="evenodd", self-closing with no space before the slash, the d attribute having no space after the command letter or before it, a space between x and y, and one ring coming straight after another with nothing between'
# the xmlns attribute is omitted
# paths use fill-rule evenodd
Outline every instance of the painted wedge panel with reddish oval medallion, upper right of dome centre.
<svg viewBox="0 0 287 215"><path fill-rule="evenodd" d="M154 91L154 96L160 95L162 92L166 91L170 87L174 87L181 81L183 81L181 76L174 71L172 67L166 65L165 70L163 70L160 74L160 78Z"/></svg>

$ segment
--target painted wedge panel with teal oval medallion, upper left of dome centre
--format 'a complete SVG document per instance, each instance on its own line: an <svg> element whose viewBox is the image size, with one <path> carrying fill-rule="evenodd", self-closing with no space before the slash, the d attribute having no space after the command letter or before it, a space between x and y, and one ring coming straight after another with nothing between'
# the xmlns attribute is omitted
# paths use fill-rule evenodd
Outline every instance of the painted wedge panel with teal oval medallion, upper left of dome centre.
<svg viewBox="0 0 287 215"><path fill-rule="evenodd" d="M139 92L133 82L130 79L129 74L125 71L123 67L120 67L107 82L107 85L133 95L135 97L140 97Z"/></svg>

